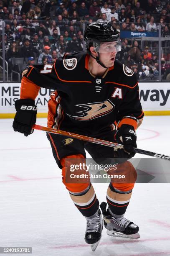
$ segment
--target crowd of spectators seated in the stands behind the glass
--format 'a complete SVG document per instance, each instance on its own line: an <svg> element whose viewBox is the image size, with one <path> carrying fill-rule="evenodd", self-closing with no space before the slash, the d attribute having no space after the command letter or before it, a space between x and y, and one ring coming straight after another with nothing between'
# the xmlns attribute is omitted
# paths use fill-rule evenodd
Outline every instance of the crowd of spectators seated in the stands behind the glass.
<svg viewBox="0 0 170 256"><path fill-rule="evenodd" d="M25 64L52 64L66 52L84 49L83 23L106 21L118 31L155 32L161 26L161 74L170 73L169 0L0 0L0 31L5 21L5 59L23 57ZM121 33L120 33L121 35ZM0 35L2 56L2 33ZM157 79L158 41L122 38L117 59L131 68L138 79Z"/></svg>

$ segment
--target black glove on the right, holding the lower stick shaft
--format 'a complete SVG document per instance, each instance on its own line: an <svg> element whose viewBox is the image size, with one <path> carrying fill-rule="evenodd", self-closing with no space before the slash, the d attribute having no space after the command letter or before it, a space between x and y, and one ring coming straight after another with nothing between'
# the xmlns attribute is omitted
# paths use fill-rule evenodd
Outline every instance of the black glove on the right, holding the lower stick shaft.
<svg viewBox="0 0 170 256"><path fill-rule="evenodd" d="M124 146L124 149L114 149L114 156L116 158L131 158L135 155L134 148L137 147L137 135L132 125L122 124L121 127L118 128L115 138L117 143L123 144Z"/></svg>

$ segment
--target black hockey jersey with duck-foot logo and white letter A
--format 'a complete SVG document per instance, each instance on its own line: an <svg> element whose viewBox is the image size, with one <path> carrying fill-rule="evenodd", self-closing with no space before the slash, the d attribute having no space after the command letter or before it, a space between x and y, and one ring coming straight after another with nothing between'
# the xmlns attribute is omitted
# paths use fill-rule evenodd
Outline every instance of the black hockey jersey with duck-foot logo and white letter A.
<svg viewBox="0 0 170 256"><path fill-rule="evenodd" d="M29 67L27 80L54 90L48 102L48 127L95 136L115 129L124 116L141 119L133 71L115 61L102 77L94 77L88 62L89 54L78 52L56 59L53 65Z"/></svg>

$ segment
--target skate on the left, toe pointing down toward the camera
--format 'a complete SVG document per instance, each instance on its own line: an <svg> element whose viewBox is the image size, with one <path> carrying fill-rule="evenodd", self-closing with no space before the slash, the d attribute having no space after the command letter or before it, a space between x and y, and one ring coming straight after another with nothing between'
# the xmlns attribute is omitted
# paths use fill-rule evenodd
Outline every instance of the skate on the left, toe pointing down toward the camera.
<svg viewBox="0 0 170 256"><path fill-rule="evenodd" d="M91 250L95 251L101 239L101 231L103 230L103 219L100 210L95 215L85 217L87 220L85 241L90 244Z"/></svg>

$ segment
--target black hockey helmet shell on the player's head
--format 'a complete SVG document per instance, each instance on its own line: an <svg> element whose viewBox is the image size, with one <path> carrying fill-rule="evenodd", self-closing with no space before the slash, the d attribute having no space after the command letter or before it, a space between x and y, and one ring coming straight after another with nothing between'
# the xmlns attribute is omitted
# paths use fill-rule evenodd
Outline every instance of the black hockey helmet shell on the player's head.
<svg viewBox="0 0 170 256"><path fill-rule="evenodd" d="M113 42L118 41L119 32L108 22L93 22L84 31L84 41L89 42Z"/></svg>

